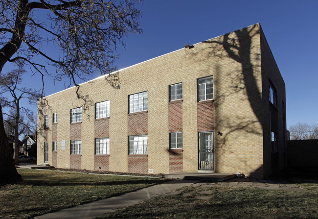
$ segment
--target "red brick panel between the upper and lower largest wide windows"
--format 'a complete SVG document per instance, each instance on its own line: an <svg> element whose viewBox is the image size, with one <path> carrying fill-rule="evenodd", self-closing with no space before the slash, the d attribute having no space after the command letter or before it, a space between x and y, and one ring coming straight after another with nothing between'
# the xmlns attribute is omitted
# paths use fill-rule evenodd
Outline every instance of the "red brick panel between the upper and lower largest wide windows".
<svg viewBox="0 0 318 219"><path fill-rule="evenodd" d="M128 136L148 134L148 111L128 114Z"/></svg>

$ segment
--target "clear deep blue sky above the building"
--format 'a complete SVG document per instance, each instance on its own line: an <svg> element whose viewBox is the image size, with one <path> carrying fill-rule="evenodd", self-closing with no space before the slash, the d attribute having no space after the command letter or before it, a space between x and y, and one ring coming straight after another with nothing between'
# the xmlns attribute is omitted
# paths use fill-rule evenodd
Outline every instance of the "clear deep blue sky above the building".
<svg viewBox="0 0 318 219"><path fill-rule="evenodd" d="M286 84L287 127L318 123L318 0L145 0L138 8L143 33L118 48L118 69L260 23ZM64 89L45 83L46 96Z"/></svg>

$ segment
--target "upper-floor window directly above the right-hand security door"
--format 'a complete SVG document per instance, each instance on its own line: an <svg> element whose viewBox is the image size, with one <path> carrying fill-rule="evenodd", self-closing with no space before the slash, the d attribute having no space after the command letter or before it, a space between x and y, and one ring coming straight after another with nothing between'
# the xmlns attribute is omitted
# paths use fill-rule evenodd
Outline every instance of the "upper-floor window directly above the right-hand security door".
<svg viewBox="0 0 318 219"><path fill-rule="evenodd" d="M213 99L213 75L197 80L198 100Z"/></svg>

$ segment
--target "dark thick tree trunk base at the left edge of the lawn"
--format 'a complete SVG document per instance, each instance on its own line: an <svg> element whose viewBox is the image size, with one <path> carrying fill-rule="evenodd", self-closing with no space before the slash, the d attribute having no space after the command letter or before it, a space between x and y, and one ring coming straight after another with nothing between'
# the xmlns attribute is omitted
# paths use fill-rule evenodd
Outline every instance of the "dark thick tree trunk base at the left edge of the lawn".
<svg viewBox="0 0 318 219"><path fill-rule="evenodd" d="M4 131L2 109L0 106L0 186L8 183L14 183L21 179L9 146L7 135Z"/></svg>

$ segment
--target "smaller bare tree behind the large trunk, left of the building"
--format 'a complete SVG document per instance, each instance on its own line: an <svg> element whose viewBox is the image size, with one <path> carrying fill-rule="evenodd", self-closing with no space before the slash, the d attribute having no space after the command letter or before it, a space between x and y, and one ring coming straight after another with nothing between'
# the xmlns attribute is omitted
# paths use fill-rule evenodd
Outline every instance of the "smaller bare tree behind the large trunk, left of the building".
<svg viewBox="0 0 318 219"><path fill-rule="evenodd" d="M11 129L14 130L15 150L13 157L16 165L19 164L19 136L27 129L28 126L23 120L23 115L25 115L26 118L31 115L29 109L21 106L21 100L23 98L27 98L29 104L35 104L36 100L40 97L40 93L38 91L26 87L20 87L23 82L23 73L25 73L23 63L19 63L18 69L7 74L0 75L0 95L7 93L11 96L2 99L1 105L4 108L10 109L9 113L3 112L3 114L6 116L4 122L7 126L11 126Z"/></svg>

